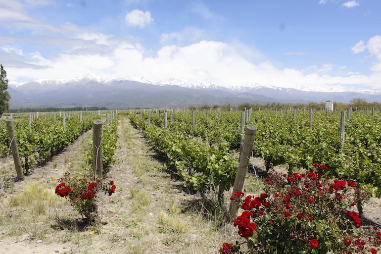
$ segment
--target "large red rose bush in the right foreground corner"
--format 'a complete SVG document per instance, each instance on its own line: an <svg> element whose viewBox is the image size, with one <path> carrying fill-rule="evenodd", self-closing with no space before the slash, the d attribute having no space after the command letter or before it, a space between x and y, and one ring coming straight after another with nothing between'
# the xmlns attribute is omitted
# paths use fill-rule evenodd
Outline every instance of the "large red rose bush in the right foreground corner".
<svg viewBox="0 0 381 254"><path fill-rule="evenodd" d="M220 253L378 253L381 232L376 227L363 229L354 209L369 192L354 181L330 179L324 174L326 165L313 166L288 176L271 171L258 197L235 193L231 200L244 211L234 226L244 240L224 243Z"/></svg>

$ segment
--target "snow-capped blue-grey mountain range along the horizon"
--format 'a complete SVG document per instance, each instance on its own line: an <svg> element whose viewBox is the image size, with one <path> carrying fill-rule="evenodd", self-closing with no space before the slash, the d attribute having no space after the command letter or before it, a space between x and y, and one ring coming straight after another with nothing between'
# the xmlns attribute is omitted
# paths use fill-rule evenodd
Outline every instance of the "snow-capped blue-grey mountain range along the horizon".
<svg viewBox="0 0 381 254"><path fill-rule="evenodd" d="M108 108L189 107L242 103L381 102L380 91L311 91L257 83L227 87L206 81L103 79L90 74L70 79L9 82L11 108L105 106Z"/></svg>

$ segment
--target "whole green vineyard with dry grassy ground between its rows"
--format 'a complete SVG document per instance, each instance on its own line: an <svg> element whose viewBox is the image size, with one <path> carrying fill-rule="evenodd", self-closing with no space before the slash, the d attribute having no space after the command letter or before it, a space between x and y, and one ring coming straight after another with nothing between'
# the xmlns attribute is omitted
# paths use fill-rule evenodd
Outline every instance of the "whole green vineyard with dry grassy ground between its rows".
<svg viewBox="0 0 381 254"><path fill-rule="evenodd" d="M256 126L252 153L248 156L249 172L267 175L271 169L279 168L281 172L288 172L288 176L295 176L293 172L312 170L313 164L315 167L324 164L328 168L326 173L332 178L356 182L374 197L381 196L381 113L376 108L372 113L294 108L242 112L139 109L118 115L111 113L111 118L97 111L83 116L77 112L67 116L58 113L13 116L24 174L32 173L24 181L12 183L8 175L14 175L14 170L11 172L8 166L5 167L8 174L5 193L9 197L1 201L5 208L0 214L0 242L4 236L20 236L25 231L31 240L48 242L52 234L63 232L67 240L62 242L64 247L59 246L65 248L64 253L105 253L110 248L113 252L135 254L216 253L222 241L235 241L237 237L237 229L224 222L226 214L219 213L218 207L226 209L233 194L239 154L248 125ZM20 211L19 193L12 190L24 190L20 195L25 196L31 181L39 181L40 186L45 190L52 189L52 193L54 188L57 191L62 187L60 197L65 197L70 193L68 183L74 183L71 187L81 183L92 188L97 179L101 180L93 170L94 139L91 141L92 135L88 131L95 126L96 119L103 122L101 167L106 183L110 183L106 193L115 192L110 199L100 198L101 223L87 225L81 231L78 215L86 212L81 210L82 204L79 204L78 212L74 212L69 199L48 201L50 198L44 198L47 200L46 211L41 212L39 209L42 208L36 208L35 201L29 208L23 203L26 208ZM64 166L58 172L55 167L60 166L54 165L53 161L82 137L84 140L75 157L65 155L60 160ZM1 161L9 154L10 141L6 123L1 120ZM150 149L145 147L145 142ZM95 148L100 149L100 144ZM261 162L257 164L258 161ZM90 176L90 180L79 182L82 178L69 178L66 174L66 178L62 178L67 171L75 177ZM254 194L263 188L264 183L260 180L257 184L253 174L246 177L245 188ZM34 177L37 175L41 180ZM296 176L299 175L296 173ZM68 180L66 187L60 181L57 186L58 179ZM39 192L45 193L43 190ZM208 200L211 196L213 199L213 195L216 203ZM86 195L83 201L83 204L90 204ZM93 206L88 205L88 208L91 212L96 211ZM41 229L17 226L15 223L20 223L19 219L26 214L32 215L28 217L31 225L45 225L42 221L49 221L48 225L41 226ZM70 219L70 216L77 219ZM92 245L88 245L89 242ZM70 251L66 249L69 243L72 246ZM224 246L230 248L230 245Z"/></svg>

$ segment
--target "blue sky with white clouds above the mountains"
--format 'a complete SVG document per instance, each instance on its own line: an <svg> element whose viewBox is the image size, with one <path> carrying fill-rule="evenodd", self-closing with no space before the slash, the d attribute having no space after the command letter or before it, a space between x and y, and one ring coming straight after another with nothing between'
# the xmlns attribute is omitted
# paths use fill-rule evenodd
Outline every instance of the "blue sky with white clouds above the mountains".
<svg viewBox="0 0 381 254"><path fill-rule="evenodd" d="M0 0L9 81L381 91L381 0Z"/></svg>

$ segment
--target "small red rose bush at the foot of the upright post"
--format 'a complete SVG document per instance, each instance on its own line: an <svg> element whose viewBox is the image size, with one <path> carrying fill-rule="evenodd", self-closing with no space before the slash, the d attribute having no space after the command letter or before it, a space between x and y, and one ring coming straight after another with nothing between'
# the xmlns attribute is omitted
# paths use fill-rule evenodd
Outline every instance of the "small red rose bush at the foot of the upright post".
<svg viewBox="0 0 381 254"><path fill-rule="evenodd" d="M55 193L59 197L68 199L88 223L94 222L97 217L98 194L104 192L111 196L116 189L113 181L108 183L102 183L101 179L88 181L86 178L70 177L70 173L67 172L58 181L60 183L55 187Z"/></svg>

